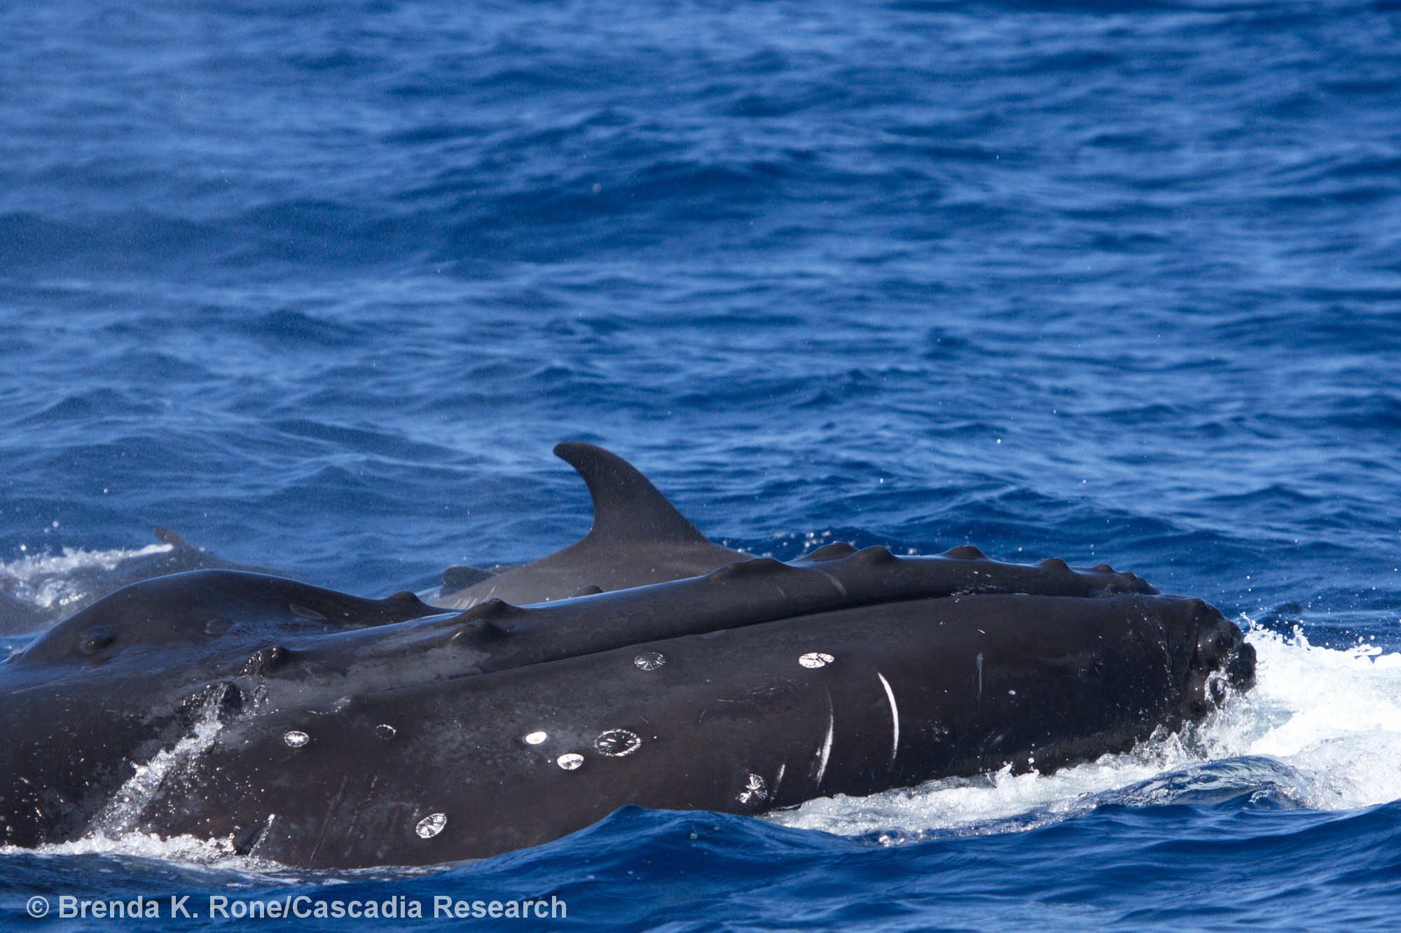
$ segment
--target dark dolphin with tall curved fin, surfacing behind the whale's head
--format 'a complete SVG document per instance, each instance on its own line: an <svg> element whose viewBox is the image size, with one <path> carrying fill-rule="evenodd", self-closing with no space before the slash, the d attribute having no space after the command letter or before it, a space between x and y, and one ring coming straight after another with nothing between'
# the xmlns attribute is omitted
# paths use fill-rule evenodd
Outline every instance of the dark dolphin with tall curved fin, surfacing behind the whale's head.
<svg viewBox="0 0 1401 933"><path fill-rule="evenodd" d="M594 503L588 534L521 566L448 567L436 605L467 609L492 598L517 605L565 600L581 590L609 593L696 577L750 556L706 541L622 457L579 441L556 444L555 455L588 485Z"/></svg>

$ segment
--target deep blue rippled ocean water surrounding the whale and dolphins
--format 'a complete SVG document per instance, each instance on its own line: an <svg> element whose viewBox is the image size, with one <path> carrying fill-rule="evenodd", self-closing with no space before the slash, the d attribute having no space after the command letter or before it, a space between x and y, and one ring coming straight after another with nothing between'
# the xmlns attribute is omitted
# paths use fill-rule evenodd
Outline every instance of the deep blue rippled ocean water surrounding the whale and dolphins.
<svg viewBox="0 0 1401 933"><path fill-rule="evenodd" d="M0 852L3 922L1394 929L1398 112L1395 0L0 4L17 597L153 525L425 591L577 538L549 448L587 440L731 546L1108 560L1261 657L1201 727L1054 775L429 870L94 831Z"/></svg>

